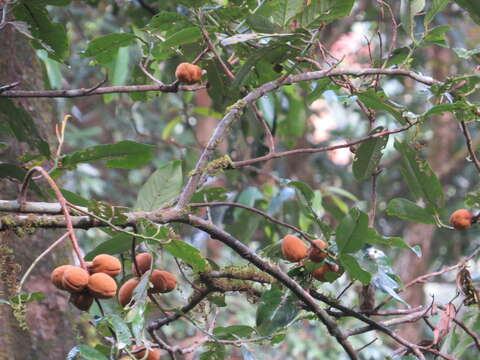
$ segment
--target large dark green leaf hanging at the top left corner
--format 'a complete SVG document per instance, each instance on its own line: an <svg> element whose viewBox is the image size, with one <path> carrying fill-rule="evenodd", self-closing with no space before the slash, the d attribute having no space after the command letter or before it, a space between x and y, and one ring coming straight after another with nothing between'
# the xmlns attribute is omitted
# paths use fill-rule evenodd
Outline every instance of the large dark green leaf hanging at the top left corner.
<svg viewBox="0 0 480 360"><path fill-rule="evenodd" d="M67 33L63 24L52 22L44 3L35 0L19 1L13 14L16 21L28 25L35 49L44 49L52 59L63 63L69 53Z"/></svg>

